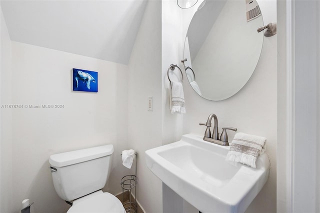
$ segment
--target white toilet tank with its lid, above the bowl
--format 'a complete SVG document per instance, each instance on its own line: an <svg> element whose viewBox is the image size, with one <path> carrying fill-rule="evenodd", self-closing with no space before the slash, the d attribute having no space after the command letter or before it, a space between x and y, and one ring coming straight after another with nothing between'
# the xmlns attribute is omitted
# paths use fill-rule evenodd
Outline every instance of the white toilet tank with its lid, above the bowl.
<svg viewBox="0 0 320 213"><path fill-rule="evenodd" d="M109 144L52 154L49 163L59 197L70 201L103 188L112 153L113 145Z"/></svg>

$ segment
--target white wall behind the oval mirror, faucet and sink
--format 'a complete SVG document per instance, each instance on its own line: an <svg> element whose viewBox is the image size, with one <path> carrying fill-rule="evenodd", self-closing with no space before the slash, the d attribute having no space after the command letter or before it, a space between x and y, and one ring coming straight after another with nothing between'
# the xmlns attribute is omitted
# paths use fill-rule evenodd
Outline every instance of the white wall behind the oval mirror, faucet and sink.
<svg viewBox="0 0 320 213"><path fill-rule="evenodd" d="M201 3L197 2L196 5ZM258 1L264 24L276 21L276 1ZM183 81L186 105L185 115L172 115L168 109L168 80L166 70L170 63L183 64L183 42L187 31L185 22L190 21L194 7L180 9L176 1L162 2L162 110L163 143L178 140L183 133L194 132L202 135L204 122L210 113L218 117L219 127L237 127L238 132L265 136L267 154L270 159L270 176L260 193L255 197L247 212L276 211L276 143L277 143L277 70L276 35L264 37L257 67L248 83L234 96L223 101L208 101L198 96L187 80ZM183 22L182 21L183 17ZM175 21L171 21L174 19ZM170 31L171 29L171 31ZM168 127L165 127L168 126ZM181 130L181 126L183 129ZM221 130L220 130L221 132ZM234 133L229 133L233 138Z"/></svg>

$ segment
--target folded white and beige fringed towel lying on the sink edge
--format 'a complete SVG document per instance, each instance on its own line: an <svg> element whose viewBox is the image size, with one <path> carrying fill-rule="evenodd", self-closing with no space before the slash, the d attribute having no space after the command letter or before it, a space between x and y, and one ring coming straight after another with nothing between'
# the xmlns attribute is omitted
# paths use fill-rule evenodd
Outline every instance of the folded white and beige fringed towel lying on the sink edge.
<svg viewBox="0 0 320 213"><path fill-rule="evenodd" d="M265 137L238 132L234 135L226 160L255 168L256 158L265 151L265 142Z"/></svg>

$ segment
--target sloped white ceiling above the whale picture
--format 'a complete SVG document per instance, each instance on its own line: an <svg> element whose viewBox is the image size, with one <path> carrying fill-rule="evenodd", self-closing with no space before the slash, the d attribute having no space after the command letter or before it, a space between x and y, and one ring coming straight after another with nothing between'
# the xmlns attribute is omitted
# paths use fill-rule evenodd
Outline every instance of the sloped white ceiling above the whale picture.
<svg viewBox="0 0 320 213"><path fill-rule="evenodd" d="M146 0L1 0L11 40L127 64Z"/></svg>

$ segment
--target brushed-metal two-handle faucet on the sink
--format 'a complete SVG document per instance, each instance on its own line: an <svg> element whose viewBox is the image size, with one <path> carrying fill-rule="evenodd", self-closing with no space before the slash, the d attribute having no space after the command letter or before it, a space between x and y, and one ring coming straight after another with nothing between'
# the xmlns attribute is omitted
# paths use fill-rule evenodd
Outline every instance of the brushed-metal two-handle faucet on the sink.
<svg viewBox="0 0 320 213"><path fill-rule="evenodd" d="M210 127L211 127L211 120L212 117L214 119L214 126L213 126L213 131L212 131L212 136L211 136L211 131L210 131ZM218 129L218 118L216 117L215 114L210 114L206 123L199 123L199 125L205 125L206 129L204 132L204 136L203 136L203 140L209 141L209 142L213 142L219 145L229 145L228 142L228 136L226 134L226 129L230 129L233 131L236 131L237 128L232 128L232 127L223 127L223 131L221 134L221 137L219 139L219 129Z"/></svg>

